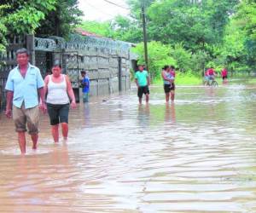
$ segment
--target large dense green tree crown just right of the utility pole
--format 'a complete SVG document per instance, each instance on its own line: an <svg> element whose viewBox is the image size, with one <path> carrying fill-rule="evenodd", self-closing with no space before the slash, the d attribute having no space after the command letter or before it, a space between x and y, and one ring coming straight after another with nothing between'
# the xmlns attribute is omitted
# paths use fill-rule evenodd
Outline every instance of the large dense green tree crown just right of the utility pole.
<svg viewBox="0 0 256 213"><path fill-rule="evenodd" d="M237 1L155 1L148 8L150 39L183 43L186 49L204 49L220 43Z"/></svg>

